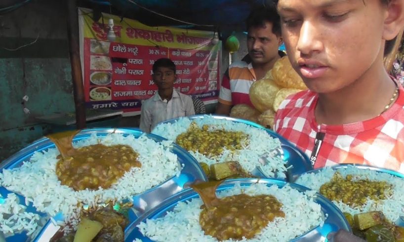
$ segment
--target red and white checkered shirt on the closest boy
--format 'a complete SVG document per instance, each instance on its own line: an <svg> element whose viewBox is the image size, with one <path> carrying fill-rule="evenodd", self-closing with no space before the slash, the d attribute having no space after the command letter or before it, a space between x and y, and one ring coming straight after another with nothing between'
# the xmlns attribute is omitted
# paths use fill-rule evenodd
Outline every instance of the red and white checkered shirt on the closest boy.
<svg viewBox="0 0 404 242"><path fill-rule="evenodd" d="M386 112L343 125L317 124L317 93L306 90L292 94L279 107L274 129L309 157L317 133L324 133L314 168L357 163L404 173L404 89L399 86L399 97Z"/></svg>

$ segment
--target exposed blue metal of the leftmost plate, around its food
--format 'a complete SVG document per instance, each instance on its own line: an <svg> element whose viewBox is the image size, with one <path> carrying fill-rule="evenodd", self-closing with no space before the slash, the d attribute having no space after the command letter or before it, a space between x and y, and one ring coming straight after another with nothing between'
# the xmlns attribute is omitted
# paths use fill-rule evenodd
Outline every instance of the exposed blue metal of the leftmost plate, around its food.
<svg viewBox="0 0 404 242"><path fill-rule="evenodd" d="M90 137L91 134L96 133L97 136L106 136L109 133L121 133L124 136L133 135L136 138L143 134L142 131L139 129L134 128L90 128L90 129L83 129L80 133L78 133L73 141L77 142L82 139L86 139ZM156 142L162 142L166 139L162 138L161 136L154 135L154 134L146 134L146 136L150 139L153 139ZM51 142L48 138L44 137L35 142L31 145L27 146L26 148L22 149L18 153L14 154L7 160L5 160L2 165L0 166L0 171L2 172L3 169L12 169L18 166L21 166L24 161L29 161L31 156L37 151L46 151L49 148L55 148L53 142ZM188 183L192 183L196 180L206 181L207 178L199 165L198 161L195 160L186 150L182 149L177 144L173 144L171 151L177 155L178 162L183 166L181 170L180 176L176 177L173 176L166 180L165 182L161 183L158 186L155 186L141 194L137 194L132 197L133 199L133 208L131 209L132 212L129 214L129 221L133 221L133 216L137 211L145 212L149 209L152 209L156 205L160 204L164 199L180 192L184 189L184 186ZM0 187L0 194L3 198L7 197L7 194L11 193L4 187ZM25 199L21 195L17 196L20 198L20 201L24 203ZM0 200L1 202L1 200ZM46 217L45 213L38 212L35 207L30 206L27 207L27 210L30 212L38 213L40 217ZM55 220L63 220L63 215L58 214L53 217ZM48 241L46 239L50 238L54 235L57 228L53 225L50 219L46 222L46 224L41 229L39 235L33 240L34 242L42 242ZM1 240L1 238L0 238ZM7 237L6 242L25 242L29 241L26 232L15 234L13 236Z"/></svg>

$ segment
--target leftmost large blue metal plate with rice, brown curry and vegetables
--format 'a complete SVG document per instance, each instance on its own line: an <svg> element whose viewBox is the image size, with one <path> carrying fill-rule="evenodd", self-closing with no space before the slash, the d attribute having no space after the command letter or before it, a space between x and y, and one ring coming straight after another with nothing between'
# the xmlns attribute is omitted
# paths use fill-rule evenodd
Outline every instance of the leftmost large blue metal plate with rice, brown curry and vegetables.
<svg viewBox="0 0 404 242"><path fill-rule="evenodd" d="M189 182L206 180L178 145L125 128L49 135L0 168L6 242L123 241L129 208L147 211Z"/></svg>

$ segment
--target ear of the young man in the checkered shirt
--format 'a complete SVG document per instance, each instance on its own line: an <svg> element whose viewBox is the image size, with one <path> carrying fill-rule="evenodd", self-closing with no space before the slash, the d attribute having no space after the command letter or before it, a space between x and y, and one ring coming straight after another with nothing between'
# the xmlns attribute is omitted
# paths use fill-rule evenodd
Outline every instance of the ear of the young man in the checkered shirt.
<svg viewBox="0 0 404 242"><path fill-rule="evenodd" d="M384 40L394 39L404 28L404 0L391 0L384 21Z"/></svg>

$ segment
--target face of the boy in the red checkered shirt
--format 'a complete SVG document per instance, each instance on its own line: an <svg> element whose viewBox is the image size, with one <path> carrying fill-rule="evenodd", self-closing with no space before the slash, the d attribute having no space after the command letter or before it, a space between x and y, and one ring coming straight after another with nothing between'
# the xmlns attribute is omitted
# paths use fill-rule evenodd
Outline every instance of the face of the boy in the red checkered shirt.
<svg viewBox="0 0 404 242"><path fill-rule="evenodd" d="M290 62L309 89L333 92L383 65L380 0L279 0L278 9Z"/></svg>

